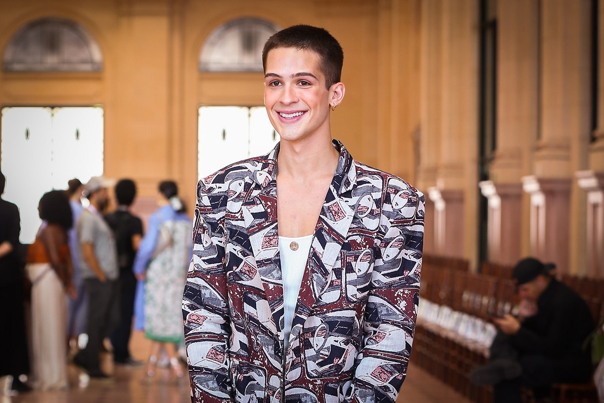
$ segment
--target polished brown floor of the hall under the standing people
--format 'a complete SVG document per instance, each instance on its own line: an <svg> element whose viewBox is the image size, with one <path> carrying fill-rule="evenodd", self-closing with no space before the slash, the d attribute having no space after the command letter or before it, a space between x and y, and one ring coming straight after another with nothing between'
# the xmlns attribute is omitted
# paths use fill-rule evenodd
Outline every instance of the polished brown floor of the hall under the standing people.
<svg viewBox="0 0 604 403"><path fill-rule="evenodd" d="M147 356L149 342L140 332L131 340L137 358ZM168 369L158 369L153 381L141 382L144 367L113 366L111 357L103 359L103 369L114 374L112 381L90 381L74 366L69 366L71 388L56 392L30 392L12 398L1 396L0 403L187 403L188 378L175 381ZM437 381L419 367L409 366L397 403L469 403L463 396Z"/></svg>

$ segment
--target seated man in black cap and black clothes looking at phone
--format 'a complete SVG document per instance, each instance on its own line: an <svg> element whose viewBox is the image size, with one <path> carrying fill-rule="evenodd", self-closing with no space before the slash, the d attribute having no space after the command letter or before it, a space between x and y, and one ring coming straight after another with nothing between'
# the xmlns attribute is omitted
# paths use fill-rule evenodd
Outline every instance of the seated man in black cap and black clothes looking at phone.
<svg viewBox="0 0 604 403"><path fill-rule="evenodd" d="M521 386L539 393L554 383L590 378L590 351L583 342L594 320L585 301L551 275L554 267L529 257L513 270L521 305L535 309L525 317L493 318L499 331L489 363L471 373L475 384L493 385L495 403L522 402Z"/></svg>

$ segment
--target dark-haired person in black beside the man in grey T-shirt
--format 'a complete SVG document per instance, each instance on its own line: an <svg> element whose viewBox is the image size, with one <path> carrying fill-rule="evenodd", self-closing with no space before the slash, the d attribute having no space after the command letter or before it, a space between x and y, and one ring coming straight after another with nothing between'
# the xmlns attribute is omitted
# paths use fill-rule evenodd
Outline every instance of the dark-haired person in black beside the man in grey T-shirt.
<svg viewBox="0 0 604 403"><path fill-rule="evenodd" d="M141 361L132 358L128 349L130 331L132 330L132 315L134 312L134 295L137 290L137 279L132 272L134 257L138 244L143 237L143 222L130 213L130 206L137 195L137 186L131 179L121 179L115 185L117 209L105 215L105 220L114 232L117 245L120 277L118 288L120 294L120 324L111 335L114 349L114 362L138 366Z"/></svg>

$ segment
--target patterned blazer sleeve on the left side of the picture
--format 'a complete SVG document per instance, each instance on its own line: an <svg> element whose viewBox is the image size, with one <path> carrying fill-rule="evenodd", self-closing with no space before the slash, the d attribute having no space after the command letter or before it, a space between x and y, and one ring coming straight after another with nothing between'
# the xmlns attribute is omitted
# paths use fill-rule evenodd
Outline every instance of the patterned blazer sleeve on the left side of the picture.
<svg viewBox="0 0 604 403"><path fill-rule="evenodd" d="M231 401L225 232L221 195L198 184L193 222L193 257L182 299L191 402ZM222 223L222 224L221 224Z"/></svg>

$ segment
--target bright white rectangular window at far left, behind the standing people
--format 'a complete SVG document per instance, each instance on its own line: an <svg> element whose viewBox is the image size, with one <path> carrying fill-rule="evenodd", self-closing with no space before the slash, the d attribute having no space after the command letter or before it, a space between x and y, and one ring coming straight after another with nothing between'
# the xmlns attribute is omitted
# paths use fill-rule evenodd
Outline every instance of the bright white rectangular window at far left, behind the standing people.
<svg viewBox="0 0 604 403"><path fill-rule="evenodd" d="M44 193L66 189L72 178L86 183L102 175L103 109L2 109L2 173L7 177L3 198L18 205L21 214L21 242L31 243Z"/></svg>

